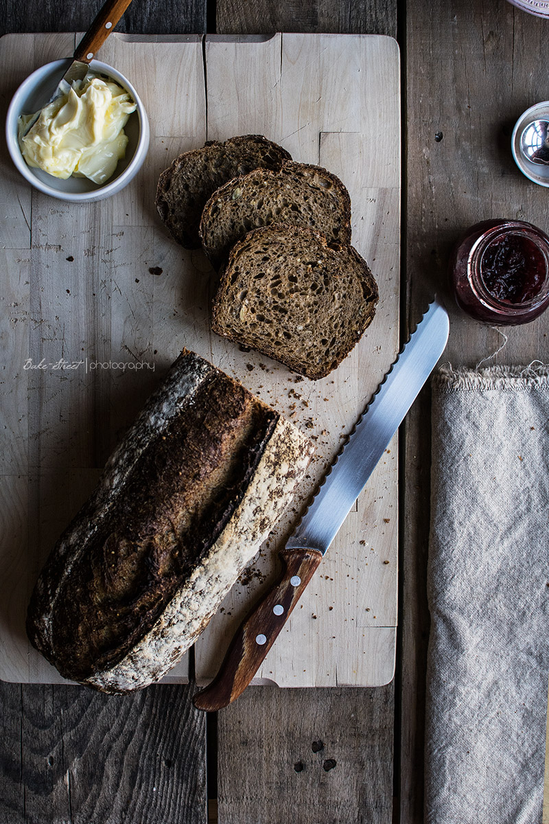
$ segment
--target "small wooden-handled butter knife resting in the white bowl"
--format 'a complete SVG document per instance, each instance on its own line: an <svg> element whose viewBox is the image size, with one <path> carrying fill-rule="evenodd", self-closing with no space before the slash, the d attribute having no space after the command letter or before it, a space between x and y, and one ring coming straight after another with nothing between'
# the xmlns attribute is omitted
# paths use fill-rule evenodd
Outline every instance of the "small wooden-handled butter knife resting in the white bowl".
<svg viewBox="0 0 549 824"><path fill-rule="evenodd" d="M95 53L100 49L100 46L105 43L111 31L114 30L114 27L128 8L130 2L132 2L132 0L107 0L105 5L100 8L97 16L95 16L95 20L74 50L72 63L58 82L54 94L26 124L23 137L32 129L36 120L40 117L40 111L44 109L46 105L53 103L56 98L68 94L68 92L71 91L73 82L83 80L84 77L86 77L90 69L90 62L95 57Z"/></svg>

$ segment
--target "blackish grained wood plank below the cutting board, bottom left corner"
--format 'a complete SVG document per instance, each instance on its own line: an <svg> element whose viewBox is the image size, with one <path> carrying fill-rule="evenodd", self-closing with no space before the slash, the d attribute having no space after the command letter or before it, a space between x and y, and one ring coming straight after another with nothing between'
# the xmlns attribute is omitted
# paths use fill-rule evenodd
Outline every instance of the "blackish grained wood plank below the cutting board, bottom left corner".
<svg viewBox="0 0 549 824"><path fill-rule="evenodd" d="M203 824L206 716L188 688L0 684L2 824Z"/></svg>

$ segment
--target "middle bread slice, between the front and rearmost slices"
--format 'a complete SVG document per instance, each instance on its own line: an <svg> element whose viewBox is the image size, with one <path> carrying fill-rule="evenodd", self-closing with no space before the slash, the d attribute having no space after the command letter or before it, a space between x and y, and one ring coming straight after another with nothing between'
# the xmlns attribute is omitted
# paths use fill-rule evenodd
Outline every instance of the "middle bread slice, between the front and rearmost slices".
<svg viewBox="0 0 549 824"><path fill-rule="evenodd" d="M351 242L351 199L322 166L287 162L277 171L255 169L216 190L202 212L200 236L212 264L250 229L291 223L321 232L328 244Z"/></svg>

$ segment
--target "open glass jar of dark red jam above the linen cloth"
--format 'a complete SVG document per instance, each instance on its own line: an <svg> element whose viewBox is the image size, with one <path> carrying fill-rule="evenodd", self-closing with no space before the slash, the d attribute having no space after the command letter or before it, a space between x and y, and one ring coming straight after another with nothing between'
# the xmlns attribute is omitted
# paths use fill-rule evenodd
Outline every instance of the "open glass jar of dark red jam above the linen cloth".
<svg viewBox="0 0 549 824"><path fill-rule="evenodd" d="M477 321L533 321L549 306L549 237L521 220L477 223L454 249L450 279L458 306Z"/></svg>

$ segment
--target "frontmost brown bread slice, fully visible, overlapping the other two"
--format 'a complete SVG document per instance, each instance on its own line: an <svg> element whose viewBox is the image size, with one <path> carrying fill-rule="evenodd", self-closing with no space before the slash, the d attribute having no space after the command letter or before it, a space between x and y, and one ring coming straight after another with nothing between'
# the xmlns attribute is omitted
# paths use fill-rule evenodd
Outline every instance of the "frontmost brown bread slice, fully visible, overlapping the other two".
<svg viewBox="0 0 549 824"><path fill-rule="evenodd" d="M375 315L378 288L352 246L311 229L249 232L230 251L212 330L318 380L341 363Z"/></svg>

